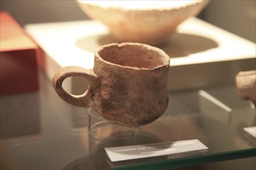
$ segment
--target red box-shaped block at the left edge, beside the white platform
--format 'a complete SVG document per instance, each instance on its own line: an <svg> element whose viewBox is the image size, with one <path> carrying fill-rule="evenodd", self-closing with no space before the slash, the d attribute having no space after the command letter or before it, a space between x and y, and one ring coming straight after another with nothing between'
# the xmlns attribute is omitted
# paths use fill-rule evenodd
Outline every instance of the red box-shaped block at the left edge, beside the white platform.
<svg viewBox="0 0 256 170"><path fill-rule="evenodd" d="M8 12L0 19L0 95L39 90L39 46Z"/></svg>

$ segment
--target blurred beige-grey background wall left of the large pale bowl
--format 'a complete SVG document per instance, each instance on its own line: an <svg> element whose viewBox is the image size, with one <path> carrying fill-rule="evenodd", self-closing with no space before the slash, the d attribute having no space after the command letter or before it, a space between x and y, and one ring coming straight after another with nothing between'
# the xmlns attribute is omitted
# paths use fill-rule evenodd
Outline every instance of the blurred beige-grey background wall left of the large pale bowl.
<svg viewBox="0 0 256 170"><path fill-rule="evenodd" d="M1 10L11 13L21 25L88 19L74 0L0 0L0 2Z"/></svg>

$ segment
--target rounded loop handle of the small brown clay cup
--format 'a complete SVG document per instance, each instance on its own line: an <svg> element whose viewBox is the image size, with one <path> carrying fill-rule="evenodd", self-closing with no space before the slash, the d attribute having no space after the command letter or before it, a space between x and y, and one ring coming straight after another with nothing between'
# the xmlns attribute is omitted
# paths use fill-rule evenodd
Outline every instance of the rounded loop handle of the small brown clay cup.
<svg viewBox="0 0 256 170"><path fill-rule="evenodd" d="M89 87L85 93L73 95L64 90L62 83L70 76L83 76L88 80ZM95 90L99 87L99 77L95 75L93 70L87 70L79 66L66 66L54 74L52 83L57 94L67 103L78 107L89 107L94 101Z"/></svg>

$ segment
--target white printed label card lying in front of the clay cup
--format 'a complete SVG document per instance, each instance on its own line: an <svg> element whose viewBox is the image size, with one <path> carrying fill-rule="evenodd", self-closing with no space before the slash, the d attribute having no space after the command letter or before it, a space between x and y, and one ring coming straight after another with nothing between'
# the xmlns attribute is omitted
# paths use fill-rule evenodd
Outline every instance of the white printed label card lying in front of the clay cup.
<svg viewBox="0 0 256 170"><path fill-rule="evenodd" d="M187 151L199 151L208 149L198 139L165 142L149 145L132 145L105 148L112 162L125 161L137 158L149 158L160 155L178 154Z"/></svg>

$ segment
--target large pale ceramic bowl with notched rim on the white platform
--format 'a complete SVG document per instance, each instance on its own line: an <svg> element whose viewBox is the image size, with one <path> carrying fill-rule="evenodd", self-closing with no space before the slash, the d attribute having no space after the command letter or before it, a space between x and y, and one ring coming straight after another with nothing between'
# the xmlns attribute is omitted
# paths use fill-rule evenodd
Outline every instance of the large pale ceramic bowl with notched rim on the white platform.
<svg viewBox="0 0 256 170"><path fill-rule="evenodd" d="M109 27L117 42L141 42L150 45L166 42L181 22L197 15L209 2L77 1L91 19L97 19Z"/></svg>

